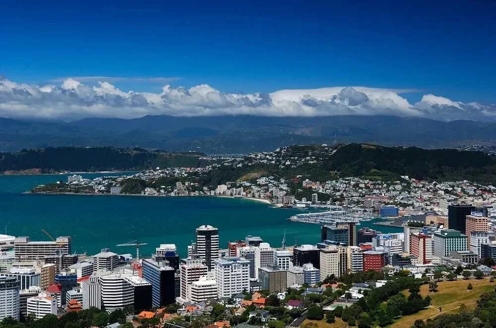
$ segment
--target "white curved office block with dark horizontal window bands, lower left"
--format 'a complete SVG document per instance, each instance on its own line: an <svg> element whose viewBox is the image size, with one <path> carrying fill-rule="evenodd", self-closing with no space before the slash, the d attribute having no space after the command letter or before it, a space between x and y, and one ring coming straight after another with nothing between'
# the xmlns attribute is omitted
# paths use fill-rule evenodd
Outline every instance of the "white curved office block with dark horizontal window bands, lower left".
<svg viewBox="0 0 496 328"><path fill-rule="evenodd" d="M133 287L125 280L130 273L110 273L100 277L102 306L106 311L122 309L131 313L133 310Z"/></svg>

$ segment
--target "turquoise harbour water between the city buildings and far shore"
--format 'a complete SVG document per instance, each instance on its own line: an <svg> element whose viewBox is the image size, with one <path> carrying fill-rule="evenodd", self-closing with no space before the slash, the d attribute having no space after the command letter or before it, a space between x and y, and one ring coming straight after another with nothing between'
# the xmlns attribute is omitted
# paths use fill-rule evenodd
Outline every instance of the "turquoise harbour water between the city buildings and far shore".
<svg viewBox="0 0 496 328"><path fill-rule="evenodd" d="M121 175L123 173L120 173ZM102 173L82 174L95 178ZM118 174L119 175L119 174ZM67 175L0 175L0 233L47 240L41 229L54 237L72 236L74 252L96 254L108 247L116 253L135 254L131 247L116 244L138 239L148 243L140 253L149 256L160 244L174 243L181 256L195 238L195 228L210 224L219 228L221 248L228 241L259 235L280 246L286 229L286 244L320 241L317 224L288 221L300 210L278 209L248 199L218 197L144 197L22 194L38 184L66 180ZM383 232L398 228L370 226Z"/></svg>

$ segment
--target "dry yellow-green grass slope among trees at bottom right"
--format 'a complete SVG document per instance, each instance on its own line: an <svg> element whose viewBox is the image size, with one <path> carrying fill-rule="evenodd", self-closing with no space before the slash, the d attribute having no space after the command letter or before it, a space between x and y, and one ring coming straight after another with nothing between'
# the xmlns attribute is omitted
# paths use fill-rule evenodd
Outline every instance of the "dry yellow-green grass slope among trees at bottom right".
<svg viewBox="0 0 496 328"><path fill-rule="evenodd" d="M467 285L469 282L472 284L473 289L467 290ZM455 281L440 281L437 283L437 292L429 292L429 285L422 285L420 293L422 296L430 295L432 298L431 306L425 310L415 313L410 316L401 317L396 320L391 326L388 327L410 327L413 323L418 320L426 320L428 318L434 318L439 314L444 313L457 313L460 304L465 304L468 309L474 309L477 305L477 300L484 293L494 290L495 283L489 282L489 278L486 279L469 279L463 280L458 279ZM408 292L405 292L408 296ZM440 313L437 307L442 308ZM336 318L334 324L327 324L325 319L322 321L315 320L305 320L304 324L316 323L318 328L344 328L347 327L340 318Z"/></svg>

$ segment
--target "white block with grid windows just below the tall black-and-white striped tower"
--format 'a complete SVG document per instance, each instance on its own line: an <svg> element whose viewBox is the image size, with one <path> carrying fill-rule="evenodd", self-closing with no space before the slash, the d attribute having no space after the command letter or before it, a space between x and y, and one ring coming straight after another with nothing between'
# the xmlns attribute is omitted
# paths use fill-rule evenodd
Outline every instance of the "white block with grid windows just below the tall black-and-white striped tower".
<svg viewBox="0 0 496 328"><path fill-rule="evenodd" d="M226 257L215 261L217 295L231 297L249 290L249 261L239 257Z"/></svg>

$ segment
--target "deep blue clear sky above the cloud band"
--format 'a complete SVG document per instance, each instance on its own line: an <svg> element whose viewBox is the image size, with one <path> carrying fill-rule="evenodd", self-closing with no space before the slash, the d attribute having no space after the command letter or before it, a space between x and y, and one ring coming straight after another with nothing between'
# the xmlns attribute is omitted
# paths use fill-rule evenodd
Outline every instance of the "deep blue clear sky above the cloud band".
<svg viewBox="0 0 496 328"><path fill-rule="evenodd" d="M173 84L243 93L416 88L457 101L496 101L495 2L133 2L4 3L0 74L34 83L180 77Z"/></svg>

